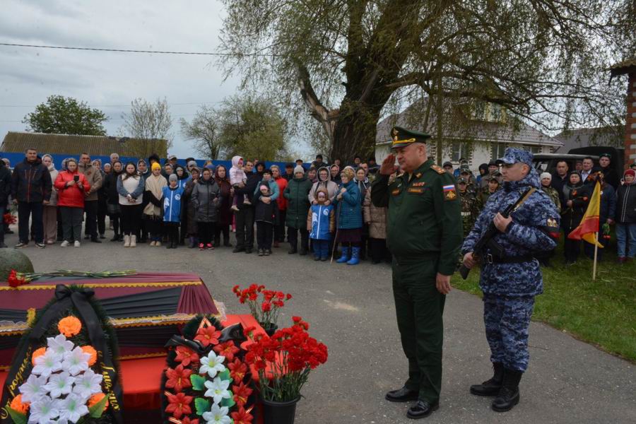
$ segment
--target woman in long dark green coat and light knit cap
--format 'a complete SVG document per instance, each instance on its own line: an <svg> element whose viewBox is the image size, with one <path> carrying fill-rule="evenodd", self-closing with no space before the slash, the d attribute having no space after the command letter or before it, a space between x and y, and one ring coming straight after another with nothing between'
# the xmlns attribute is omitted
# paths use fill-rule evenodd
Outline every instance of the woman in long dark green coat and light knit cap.
<svg viewBox="0 0 636 424"><path fill-rule="evenodd" d="M288 254L298 252L298 232L300 232L300 254L306 255L309 250L309 231L307 231L307 211L310 208L309 192L312 182L305 176L305 168L297 165L294 178L288 182L283 196L287 199L287 241Z"/></svg>

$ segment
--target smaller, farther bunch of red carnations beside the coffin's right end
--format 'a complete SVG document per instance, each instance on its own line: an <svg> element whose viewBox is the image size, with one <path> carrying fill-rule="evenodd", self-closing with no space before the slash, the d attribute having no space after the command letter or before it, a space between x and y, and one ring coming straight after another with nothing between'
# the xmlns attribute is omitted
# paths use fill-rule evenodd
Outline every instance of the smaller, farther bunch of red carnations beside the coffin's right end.
<svg viewBox="0 0 636 424"><path fill-rule="evenodd" d="M264 285L252 284L248 288L241 288L235 285L232 292L241 303L247 303L252 317L261 324L263 329L269 330L276 327L278 322L278 313L281 307L285 306L285 302L292 298L289 293L281 291L267 290ZM259 302L259 296L262 300Z"/></svg>

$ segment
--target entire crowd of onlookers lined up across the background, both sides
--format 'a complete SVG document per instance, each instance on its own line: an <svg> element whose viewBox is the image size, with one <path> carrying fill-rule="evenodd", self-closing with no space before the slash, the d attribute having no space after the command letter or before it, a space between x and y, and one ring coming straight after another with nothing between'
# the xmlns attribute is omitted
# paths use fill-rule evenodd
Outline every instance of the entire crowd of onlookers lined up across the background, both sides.
<svg viewBox="0 0 636 424"><path fill-rule="evenodd" d="M587 256L594 255L593 245L567 235L581 223L597 180L602 190L601 234L608 235L609 225L616 224L618 260L636 257L636 165L618 175L610 161L610 155L601 155L600 166L595 166L592 158L585 158L574 170L561 161L553 174L541 174L543 190L561 213L567 263L577 260L581 243ZM356 156L344 166L317 155L309 167L297 160L284 170L240 156L232 158L230 169L211 160L204 167L194 158L185 163L179 165L174 155L163 163L151 155L124 164L112 153L110 162L102 164L82 153L79 160L66 158L58 170L51 155L40 157L29 149L13 172L8 161L0 161L0 212L8 211L10 199L17 206L16 248L30 240L40 248L55 242L79 247L82 228L84 240L100 243L109 217L114 233L110 241L123 242L124 247L232 247L230 231L235 230L236 253L256 249L259 256L269 256L288 242L289 254L312 253L315 260L326 261L337 243L342 252L338 263L391 260L385 242L387 210L370 199L379 170L374 158L364 162ZM475 176L465 160L457 169L452 163L443 168L457 179L466 236L490 194L502 187L500 169L494 161L484 163ZM6 247L8 231L5 224L1 247ZM548 258L541 260L548 264Z"/></svg>

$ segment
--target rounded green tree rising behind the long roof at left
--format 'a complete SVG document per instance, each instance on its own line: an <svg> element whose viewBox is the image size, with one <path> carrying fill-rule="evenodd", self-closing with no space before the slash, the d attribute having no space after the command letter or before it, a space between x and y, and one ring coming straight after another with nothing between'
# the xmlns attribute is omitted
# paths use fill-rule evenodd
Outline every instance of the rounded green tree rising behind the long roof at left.
<svg viewBox="0 0 636 424"><path fill-rule="evenodd" d="M91 109L85 102L52 95L46 103L37 105L35 112L26 115L23 123L28 131L39 133L105 136L102 123L106 120L104 112Z"/></svg>

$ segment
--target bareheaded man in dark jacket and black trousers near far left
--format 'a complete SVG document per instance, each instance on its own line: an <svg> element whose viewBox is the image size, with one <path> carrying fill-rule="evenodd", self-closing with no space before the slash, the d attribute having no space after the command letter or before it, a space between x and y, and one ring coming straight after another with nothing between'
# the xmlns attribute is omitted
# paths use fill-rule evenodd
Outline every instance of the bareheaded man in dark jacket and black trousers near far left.
<svg viewBox="0 0 636 424"><path fill-rule="evenodd" d="M44 249L44 228L42 212L51 199L51 174L37 156L35 148L28 148L23 162L13 168L11 176L11 197L18 204L18 235L20 241L16 249L29 244L29 217L33 219L35 245Z"/></svg>

